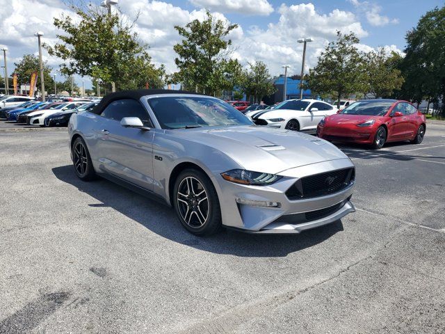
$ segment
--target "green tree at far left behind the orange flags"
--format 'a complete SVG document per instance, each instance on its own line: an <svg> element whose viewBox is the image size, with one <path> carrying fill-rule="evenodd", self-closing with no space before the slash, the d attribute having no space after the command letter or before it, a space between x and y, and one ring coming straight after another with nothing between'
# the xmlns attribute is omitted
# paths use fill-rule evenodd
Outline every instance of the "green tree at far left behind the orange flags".
<svg viewBox="0 0 445 334"><path fill-rule="evenodd" d="M14 63L15 70L14 72L17 73L17 81L18 86L20 84L29 84L29 81L31 79L31 73L37 72L38 73L38 80L37 80L37 89L42 90L42 85L40 81L40 63L38 56L34 56L33 54L25 54L21 61L18 63ZM45 90L51 94L54 93L54 80L51 77L51 67L47 65L47 62L45 61L43 63L43 75L44 75L44 83L45 83ZM13 86L10 86L13 87Z"/></svg>

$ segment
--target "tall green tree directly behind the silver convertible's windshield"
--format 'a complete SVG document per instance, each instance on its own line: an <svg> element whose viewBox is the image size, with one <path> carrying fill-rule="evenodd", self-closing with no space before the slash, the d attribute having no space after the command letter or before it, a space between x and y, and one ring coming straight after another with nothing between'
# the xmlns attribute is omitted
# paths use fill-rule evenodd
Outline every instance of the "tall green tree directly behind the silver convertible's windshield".
<svg viewBox="0 0 445 334"><path fill-rule="evenodd" d="M172 81L209 95L227 88L230 80L225 77L225 70L236 66L227 60L232 45L227 35L237 26L216 19L209 12L202 22L194 19L184 27L175 26L183 40L173 47L179 71L173 74Z"/></svg>

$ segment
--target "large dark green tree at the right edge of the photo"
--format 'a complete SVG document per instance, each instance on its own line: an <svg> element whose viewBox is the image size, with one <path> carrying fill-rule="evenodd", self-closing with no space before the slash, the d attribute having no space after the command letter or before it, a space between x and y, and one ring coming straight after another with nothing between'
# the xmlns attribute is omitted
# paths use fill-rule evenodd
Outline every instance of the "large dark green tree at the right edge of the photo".
<svg viewBox="0 0 445 334"><path fill-rule="evenodd" d="M400 64L405 84L398 97L437 104L445 97L445 6L428 11L406 35L405 58ZM445 104L442 104L445 116Z"/></svg>

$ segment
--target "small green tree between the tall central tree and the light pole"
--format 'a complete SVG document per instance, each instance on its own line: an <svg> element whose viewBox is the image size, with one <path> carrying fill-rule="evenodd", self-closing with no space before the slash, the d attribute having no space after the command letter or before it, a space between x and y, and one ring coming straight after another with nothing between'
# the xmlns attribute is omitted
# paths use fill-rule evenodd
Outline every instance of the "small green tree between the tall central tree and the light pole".
<svg viewBox="0 0 445 334"><path fill-rule="evenodd" d="M249 69L244 72L243 88L248 100L251 98L254 102L261 102L263 97L275 93L273 78L265 63L257 61L249 63Z"/></svg>

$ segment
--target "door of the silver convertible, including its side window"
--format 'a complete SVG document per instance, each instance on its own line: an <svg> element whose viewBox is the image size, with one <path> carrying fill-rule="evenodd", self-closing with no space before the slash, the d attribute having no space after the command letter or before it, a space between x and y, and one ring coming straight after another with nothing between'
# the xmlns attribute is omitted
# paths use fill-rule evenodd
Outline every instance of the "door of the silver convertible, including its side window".
<svg viewBox="0 0 445 334"><path fill-rule="evenodd" d="M95 129L99 168L152 191L154 131L120 125L124 117L138 117L153 127L145 107L136 100L115 100L100 116L100 126Z"/></svg>

